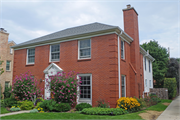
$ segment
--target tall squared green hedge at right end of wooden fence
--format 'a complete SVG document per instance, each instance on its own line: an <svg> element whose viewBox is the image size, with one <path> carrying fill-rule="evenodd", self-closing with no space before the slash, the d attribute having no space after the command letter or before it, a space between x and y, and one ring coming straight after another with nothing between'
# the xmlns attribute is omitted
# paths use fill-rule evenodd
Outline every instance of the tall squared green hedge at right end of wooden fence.
<svg viewBox="0 0 180 120"><path fill-rule="evenodd" d="M168 89L169 99L176 97L176 78L165 78L164 80L164 88Z"/></svg>

